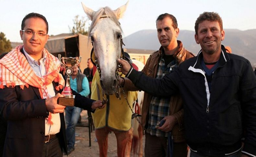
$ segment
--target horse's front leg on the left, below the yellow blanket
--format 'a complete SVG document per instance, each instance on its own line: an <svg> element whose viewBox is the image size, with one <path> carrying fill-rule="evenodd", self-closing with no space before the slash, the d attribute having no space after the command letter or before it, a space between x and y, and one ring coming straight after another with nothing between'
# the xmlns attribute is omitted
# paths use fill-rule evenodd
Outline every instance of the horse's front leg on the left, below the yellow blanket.
<svg viewBox="0 0 256 157"><path fill-rule="evenodd" d="M108 152L108 135L110 130L108 127L95 130L95 135L99 144L99 156L107 157Z"/></svg>

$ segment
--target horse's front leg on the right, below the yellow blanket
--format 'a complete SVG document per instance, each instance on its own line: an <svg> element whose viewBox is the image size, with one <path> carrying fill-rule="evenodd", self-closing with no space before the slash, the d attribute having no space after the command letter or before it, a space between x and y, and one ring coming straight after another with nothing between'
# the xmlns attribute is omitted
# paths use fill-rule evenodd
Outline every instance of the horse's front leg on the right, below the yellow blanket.
<svg viewBox="0 0 256 157"><path fill-rule="evenodd" d="M125 157L126 146L128 144L128 140L130 138L130 136L129 136L130 130L128 130L128 131L113 130L114 134L116 135L117 156L118 157Z"/></svg>

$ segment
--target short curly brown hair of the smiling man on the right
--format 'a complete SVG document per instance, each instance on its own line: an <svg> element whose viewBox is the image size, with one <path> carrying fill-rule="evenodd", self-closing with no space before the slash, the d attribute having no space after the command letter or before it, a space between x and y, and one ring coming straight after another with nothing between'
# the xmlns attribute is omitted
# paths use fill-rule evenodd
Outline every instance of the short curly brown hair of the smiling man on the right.
<svg viewBox="0 0 256 157"><path fill-rule="evenodd" d="M199 17L195 21L195 33L197 34L198 32L198 26L200 23L203 21L208 20L208 21L218 21L220 25L220 30L223 30L223 25L222 25L222 19L219 16L218 13L215 12L204 12L203 14L200 14Z"/></svg>

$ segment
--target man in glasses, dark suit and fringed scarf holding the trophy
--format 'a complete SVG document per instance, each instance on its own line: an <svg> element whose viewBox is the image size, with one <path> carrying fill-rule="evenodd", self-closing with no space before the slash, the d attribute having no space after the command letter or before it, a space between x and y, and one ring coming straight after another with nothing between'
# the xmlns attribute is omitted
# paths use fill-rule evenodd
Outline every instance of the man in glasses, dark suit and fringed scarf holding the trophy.
<svg viewBox="0 0 256 157"><path fill-rule="evenodd" d="M44 49L47 33L44 16L26 15L20 30L24 45L0 60L0 114L7 120L3 156L62 157L62 150L67 152L65 107L57 104L64 79L60 62ZM90 112L102 107L99 100L73 94L76 107Z"/></svg>

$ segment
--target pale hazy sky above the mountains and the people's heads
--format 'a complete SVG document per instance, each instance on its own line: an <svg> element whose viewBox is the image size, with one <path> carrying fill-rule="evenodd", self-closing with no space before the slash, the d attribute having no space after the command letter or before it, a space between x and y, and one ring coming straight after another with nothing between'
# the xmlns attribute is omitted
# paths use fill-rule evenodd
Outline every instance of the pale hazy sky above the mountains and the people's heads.
<svg viewBox="0 0 256 157"><path fill-rule="evenodd" d="M22 19L31 12L42 14L49 23L49 35L69 33L76 15L84 16L81 1L97 11L109 6L117 9L127 0L0 0L0 32L12 42L22 42L19 36ZM204 11L219 13L224 29L256 29L255 0L130 0L120 19L123 35L143 29L156 29L160 14L169 13L178 21L180 30L194 30L196 18ZM88 23L89 24L89 23Z"/></svg>

